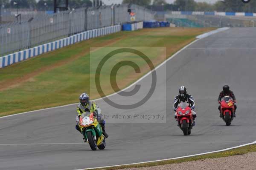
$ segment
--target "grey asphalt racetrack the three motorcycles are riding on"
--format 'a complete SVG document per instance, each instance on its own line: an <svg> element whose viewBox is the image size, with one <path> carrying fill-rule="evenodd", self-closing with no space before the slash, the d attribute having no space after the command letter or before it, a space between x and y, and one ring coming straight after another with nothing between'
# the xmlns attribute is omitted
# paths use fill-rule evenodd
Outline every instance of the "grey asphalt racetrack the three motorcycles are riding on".
<svg viewBox="0 0 256 170"><path fill-rule="evenodd" d="M105 150L92 151L75 130L76 105L0 118L0 170L73 170L128 164L204 153L256 140L254 28L231 28L198 40L156 72L157 88L151 99L139 110L125 112L143 115L164 111L166 123L108 123ZM147 86L150 79L151 75L138 84ZM237 118L229 127L218 117L217 109L218 93L226 83L235 93L238 106ZM183 136L177 127L172 110L181 85L194 96L198 114L189 136ZM147 93L145 88L137 95ZM135 100L123 100L119 95L110 99L122 104ZM104 112L116 112L103 100L97 104Z"/></svg>

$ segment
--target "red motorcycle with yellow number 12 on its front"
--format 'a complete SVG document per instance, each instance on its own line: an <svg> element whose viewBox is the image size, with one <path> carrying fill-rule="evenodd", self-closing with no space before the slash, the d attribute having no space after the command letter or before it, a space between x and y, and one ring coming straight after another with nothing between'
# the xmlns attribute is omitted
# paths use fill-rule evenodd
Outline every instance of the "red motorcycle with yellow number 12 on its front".
<svg viewBox="0 0 256 170"><path fill-rule="evenodd" d="M224 96L221 99L221 115L226 125L229 126L233 121L233 112L235 111L233 99L230 96Z"/></svg>

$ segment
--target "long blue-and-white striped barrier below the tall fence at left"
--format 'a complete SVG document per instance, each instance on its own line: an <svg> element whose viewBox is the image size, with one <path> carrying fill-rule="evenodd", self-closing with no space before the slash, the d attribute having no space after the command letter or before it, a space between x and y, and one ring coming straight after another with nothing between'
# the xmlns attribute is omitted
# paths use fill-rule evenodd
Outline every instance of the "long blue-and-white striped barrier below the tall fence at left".
<svg viewBox="0 0 256 170"><path fill-rule="evenodd" d="M99 37L101 35L108 35L108 34L120 32L120 31L121 31L121 25L108 26L100 29L88 30L86 32L81 32L79 34L76 34L67 38L63 38L61 40L56 40L56 41L46 43L40 46L36 46L30 49L25 49L20 52L15 52L13 54L0 57L0 68L9 66L13 63L24 61L28 58L32 58L37 55L41 55L45 52L50 52L55 49L62 48L64 46L69 46L79 41L88 40L93 37Z"/></svg>

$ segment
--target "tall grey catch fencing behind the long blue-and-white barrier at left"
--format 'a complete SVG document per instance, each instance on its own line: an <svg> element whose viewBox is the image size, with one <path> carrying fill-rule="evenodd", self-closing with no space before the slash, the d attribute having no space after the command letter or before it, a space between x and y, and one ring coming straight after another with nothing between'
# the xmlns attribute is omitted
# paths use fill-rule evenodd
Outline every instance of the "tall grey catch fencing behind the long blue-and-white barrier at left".
<svg viewBox="0 0 256 170"><path fill-rule="evenodd" d="M131 18L128 9L136 13L135 17ZM153 12L133 4L80 8L57 14L40 13L26 21L0 25L0 56L87 30L153 18Z"/></svg>

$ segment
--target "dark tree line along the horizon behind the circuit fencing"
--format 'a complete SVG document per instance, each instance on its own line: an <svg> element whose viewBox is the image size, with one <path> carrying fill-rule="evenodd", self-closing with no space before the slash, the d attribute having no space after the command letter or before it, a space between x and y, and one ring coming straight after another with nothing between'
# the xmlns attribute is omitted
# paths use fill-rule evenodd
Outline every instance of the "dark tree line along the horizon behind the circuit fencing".
<svg viewBox="0 0 256 170"><path fill-rule="evenodd" d="M63 1L63 0L62 0ZM2 3L2 4L1 4ZM4 8L53 10L53 0L0 0ZM256 0L250 3L242 3L241 0L219 0L214 4L207 2L195 2L195 0L175 0L174 3L166 3L166 0L123 0L122 3L134 3L145 6L154 11L219 11L219 12L256 12ZM90 0L69 0L70 9L92 6Z"/></svg>

